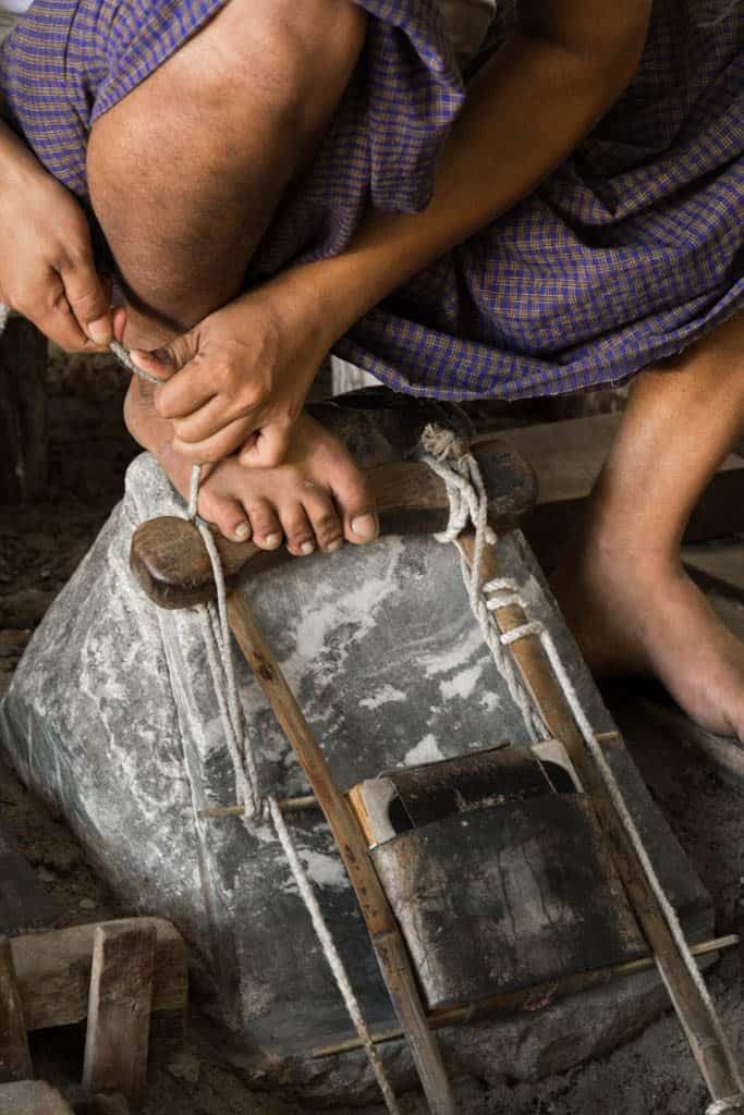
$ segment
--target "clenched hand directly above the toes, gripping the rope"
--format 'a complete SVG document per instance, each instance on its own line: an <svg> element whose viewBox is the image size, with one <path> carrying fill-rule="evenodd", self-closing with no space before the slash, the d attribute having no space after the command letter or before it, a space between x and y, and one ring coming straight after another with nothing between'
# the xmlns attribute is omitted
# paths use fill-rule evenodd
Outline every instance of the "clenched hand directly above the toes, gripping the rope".
<svg viewBox="0 0 744 1115"><path fill-rule="evenodd" d="M318 324L311 292L280 275L134 362L167 379L155 409L173 423L173 447L190 460L274 467L332 338Z"/></svg>

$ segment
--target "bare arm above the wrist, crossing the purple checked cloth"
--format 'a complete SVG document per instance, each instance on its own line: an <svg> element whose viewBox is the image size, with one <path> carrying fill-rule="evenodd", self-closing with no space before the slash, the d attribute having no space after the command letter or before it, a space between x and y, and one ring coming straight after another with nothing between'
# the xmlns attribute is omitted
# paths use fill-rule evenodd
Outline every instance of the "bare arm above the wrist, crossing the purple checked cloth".
<svg viewBox="0 0 744 1115"><path fill-rule="evenodd" d="M431 204L371 214L340 255L297 269L332 345L392 290L496 220L578 145L632 76L642 39L611 65L515 33L479 75L452 128Z"/></svg>

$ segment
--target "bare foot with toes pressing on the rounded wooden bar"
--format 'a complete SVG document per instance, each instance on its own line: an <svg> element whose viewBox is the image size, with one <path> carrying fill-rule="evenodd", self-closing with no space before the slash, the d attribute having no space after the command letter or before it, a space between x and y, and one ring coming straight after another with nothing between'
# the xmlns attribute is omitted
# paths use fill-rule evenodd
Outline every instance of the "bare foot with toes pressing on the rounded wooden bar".
<svg viewBox="0 0 744 1115"><path fill-rule="evenodd" d="M191 464L172 447L171 424L160 418L146 388L132 384L125 407L129 432L157 457L181 492L189 494ZM365 477L346 448L302 415L282 465L247 468L236 457L204 469L199 513L226 539L252 539L263 550L286 541L294 556L332 553L344 539L355 545L377 537L377 516Z"/></svg>

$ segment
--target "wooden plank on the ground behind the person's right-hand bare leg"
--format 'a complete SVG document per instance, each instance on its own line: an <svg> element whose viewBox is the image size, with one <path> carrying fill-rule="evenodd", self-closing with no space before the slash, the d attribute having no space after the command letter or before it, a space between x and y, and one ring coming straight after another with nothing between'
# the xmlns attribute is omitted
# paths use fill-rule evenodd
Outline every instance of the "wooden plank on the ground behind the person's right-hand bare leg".
<svg viewBox="0 0 744 1115"><path fill-rule="evenodd" d="M503 430L500 438L532 465L538 501L522 529L547 568L581 522L583 505L619 426L620 414ZM705 542L744 531L744 457L732 453L713 477L687 529L687 542Z"/></svg>

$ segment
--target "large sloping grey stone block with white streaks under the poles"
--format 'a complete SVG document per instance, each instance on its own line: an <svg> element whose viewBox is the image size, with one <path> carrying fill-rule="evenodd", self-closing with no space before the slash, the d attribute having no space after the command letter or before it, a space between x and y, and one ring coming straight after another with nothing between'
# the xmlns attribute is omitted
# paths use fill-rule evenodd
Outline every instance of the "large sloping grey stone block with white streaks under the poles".
<svg viewBox="0 0 744 1115"><path fill-rule="evenodd" d="M0 736L119 898L174 921L200 952L222 1019L253 1046L301 1057L348 1036L344 1006L271 825L197 816L235 801L203 628L194 611L156 609L128 572L135 527L180 512L154 462L139 457L122 504L27 650L0 710ZM499 546L533 617L550 624L595 728L612 730L522 536ZM454 547L386 539L289 563L245 591L341 786L502 739L528 743L472 619ZM239 680L262 787L279 797L306 793L243 665ZM612 763L688 934L706 935L707 894L624 747ZM389 1026L329 833L312 812L292 815L291 826L368 1019ZM663 1002L653 975L635 977L443 1040L456 1069L530 1076L607 1048ZM405 1077L400 1046L386 1049ZM293 1075L321 1075L347 1092L368 1083L356 1058L315 1064L298 1060Z"/></svg>

